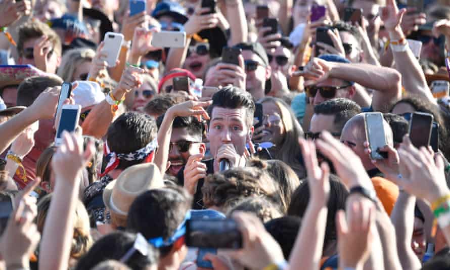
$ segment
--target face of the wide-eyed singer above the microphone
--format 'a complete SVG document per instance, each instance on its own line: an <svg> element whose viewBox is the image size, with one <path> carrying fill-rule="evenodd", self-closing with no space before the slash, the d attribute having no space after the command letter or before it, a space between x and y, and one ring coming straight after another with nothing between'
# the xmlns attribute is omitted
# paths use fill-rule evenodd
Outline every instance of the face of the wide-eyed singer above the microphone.
<svg viewBox="0 0 450 270"><path fill-rule="evenodd" d="M246 121L246 109L214 107L209 122L208 140L211 155L215 158L223 144L233 144L238 155L243 155L245 144L251 138L253 126Z"/></svg>

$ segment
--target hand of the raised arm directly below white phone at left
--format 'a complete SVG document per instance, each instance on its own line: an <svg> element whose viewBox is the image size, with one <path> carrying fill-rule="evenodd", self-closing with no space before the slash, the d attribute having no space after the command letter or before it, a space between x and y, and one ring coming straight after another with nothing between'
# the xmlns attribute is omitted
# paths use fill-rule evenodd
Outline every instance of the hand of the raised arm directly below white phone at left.
<svg viewBox="0 0 450 270"><path fill-rule="evenodd" d="M61 135L63 143L52 158L52 168L59 181L73 184L79 181L79 173L91 160L95 153L94 142L89 142L86 150L83 150L83 137L81 132L63 131ZM57 183L56 185L58 185Z"/></svg>

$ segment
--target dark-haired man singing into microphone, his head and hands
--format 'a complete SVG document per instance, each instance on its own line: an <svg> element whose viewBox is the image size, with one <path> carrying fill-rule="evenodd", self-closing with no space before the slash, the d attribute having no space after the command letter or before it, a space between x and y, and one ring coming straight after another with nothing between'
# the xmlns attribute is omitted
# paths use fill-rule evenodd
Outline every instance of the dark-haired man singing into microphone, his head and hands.
<svg viewBox="0 0 450 270"><path fill-rule="evenodd" d="M201 187L207 174L219 171L220 167L245 166L246 144L251 141L254 130L254 113L251 95L238 87L223 87L212 97L208 107L211 120L207 138L214 159L203 163L201 154L191 156L184 170L178 173L179 182L194 195L194 208L202 205Z"/></svg>

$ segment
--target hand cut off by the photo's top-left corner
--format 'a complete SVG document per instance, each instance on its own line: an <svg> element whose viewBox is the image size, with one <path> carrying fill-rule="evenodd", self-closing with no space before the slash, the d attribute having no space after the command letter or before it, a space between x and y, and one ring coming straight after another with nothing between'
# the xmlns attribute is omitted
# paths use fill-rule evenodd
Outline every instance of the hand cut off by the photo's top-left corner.
<svg viewBox="0 0 450 270"><path fill-rule="evenodd" d="M7 27L22 16L28 16L31 13L31 0L3 0L0 2L0 27Z"/></svg>

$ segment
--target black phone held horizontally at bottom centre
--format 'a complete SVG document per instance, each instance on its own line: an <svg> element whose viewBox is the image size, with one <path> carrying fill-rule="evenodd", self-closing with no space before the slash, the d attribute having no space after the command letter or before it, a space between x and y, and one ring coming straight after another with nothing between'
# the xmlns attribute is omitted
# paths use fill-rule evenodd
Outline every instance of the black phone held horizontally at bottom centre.
<svg viewBox="0 0 450 270"><path fill-rule="evenodd" d="M198 248L240 249L242 234L233 219L188 220L186 245Z"/></svg>

